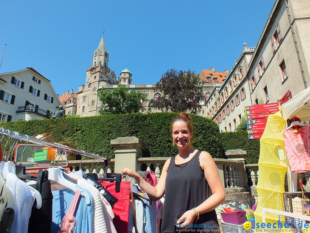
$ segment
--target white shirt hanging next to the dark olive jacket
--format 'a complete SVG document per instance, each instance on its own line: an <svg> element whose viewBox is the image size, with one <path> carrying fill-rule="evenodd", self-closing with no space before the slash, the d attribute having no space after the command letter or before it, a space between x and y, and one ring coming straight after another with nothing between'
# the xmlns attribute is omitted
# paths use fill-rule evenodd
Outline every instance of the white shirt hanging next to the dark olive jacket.
<svg viewBox="0 0 310 233"><path fill-rule="evenodd" d="M28 230L28 222L34 198L26 183L20 180L14 173L10 172L7 175L6 184L15 199L15 213L11 233L24 233Z"/></svg>

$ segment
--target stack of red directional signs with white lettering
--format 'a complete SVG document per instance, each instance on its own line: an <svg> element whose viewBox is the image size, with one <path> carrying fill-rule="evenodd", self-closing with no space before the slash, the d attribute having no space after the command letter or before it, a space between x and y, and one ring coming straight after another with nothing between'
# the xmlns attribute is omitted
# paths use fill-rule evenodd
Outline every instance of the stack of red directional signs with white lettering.
<svg viewBox="0 0 310 233"><path fill-rule="evenodd" d="M246 113L246 128L249 139L259 139L263 135L267 118L279 111L278 103L267 103L244 107Z"/></svg>

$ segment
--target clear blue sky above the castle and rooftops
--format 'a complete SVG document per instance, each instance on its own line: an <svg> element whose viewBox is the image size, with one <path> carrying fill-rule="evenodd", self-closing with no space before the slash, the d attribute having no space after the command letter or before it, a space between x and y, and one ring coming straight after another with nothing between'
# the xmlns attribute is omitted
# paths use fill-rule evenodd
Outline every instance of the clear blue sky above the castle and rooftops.
<svg viewBox="0 0 310 233"><path fill-rule="evenodd" d="M105 30L109 68L133 84L154 84L167 70L232 68L257 44L273 0L2 1L0 73L33 67L57 94L78 90ZM0 57L0 59L1 59Z"/></svg>

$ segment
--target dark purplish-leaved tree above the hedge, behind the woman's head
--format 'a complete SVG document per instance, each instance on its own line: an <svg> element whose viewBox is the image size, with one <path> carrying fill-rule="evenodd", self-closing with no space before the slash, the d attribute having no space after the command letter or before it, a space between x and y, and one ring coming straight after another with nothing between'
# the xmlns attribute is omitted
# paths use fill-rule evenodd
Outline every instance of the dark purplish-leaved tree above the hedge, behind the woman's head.
<svg viewBox="0 0 310 233"><path fill-rule="evenodd" d="M161 111L197 114L202 108L200 103L205 102L202 81L195 71L171 69L162 75L154 91L160 96L156 101L151 99L149 107Z"/></svg>

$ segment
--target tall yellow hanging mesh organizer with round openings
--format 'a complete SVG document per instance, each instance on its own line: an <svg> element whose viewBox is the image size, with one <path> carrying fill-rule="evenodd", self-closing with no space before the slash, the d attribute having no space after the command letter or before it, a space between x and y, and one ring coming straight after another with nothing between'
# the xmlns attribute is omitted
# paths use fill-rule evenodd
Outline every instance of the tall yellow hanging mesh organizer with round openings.
<svg viewBox="0 0 310 233"><path fill-rule="evenodd" d="M268 116L264 133L260 139L259 179L257 183L258 204L255 209L255 222L262 223L262 207L283 210L284 180L287 170L286 153L284 149L285 129L281 112ZM277 223L279 216L266 213L266 223Z"/></svg>

